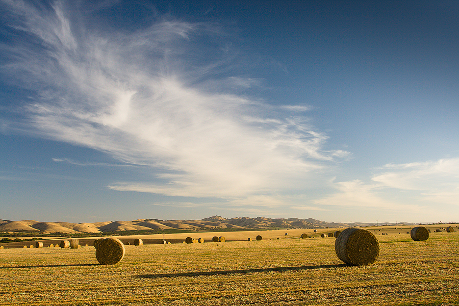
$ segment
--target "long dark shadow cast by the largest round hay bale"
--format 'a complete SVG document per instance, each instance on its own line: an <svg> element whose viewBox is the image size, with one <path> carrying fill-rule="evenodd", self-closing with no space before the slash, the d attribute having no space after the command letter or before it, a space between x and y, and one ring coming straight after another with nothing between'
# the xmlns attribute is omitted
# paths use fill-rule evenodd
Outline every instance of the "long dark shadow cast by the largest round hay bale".
<svg viewBox="0 0 459 306"><path fill-rule="evenodd" d="M137 275L137 278L162 278L162 277L177 277L177 276L202 276L202 275L227 275L227 274L244 274L255 272L276 272L276 271L293 271L293 270L314 270L348 267L348 264L336 265L321 265L321 266L301 266L301 267L272 267L258 269L243 269L243 270L223 270L223 271L202 271L202 272L186 272L186 273L165 273L165 274L142 274Z"/></svg>

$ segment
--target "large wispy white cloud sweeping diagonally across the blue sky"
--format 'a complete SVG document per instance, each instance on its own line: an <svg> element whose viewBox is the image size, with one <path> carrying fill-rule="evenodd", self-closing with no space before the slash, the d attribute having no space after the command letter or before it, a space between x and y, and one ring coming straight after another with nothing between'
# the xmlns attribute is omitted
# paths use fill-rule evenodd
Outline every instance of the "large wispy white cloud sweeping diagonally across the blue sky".
<svg viewBox="0 0 459 306"><path fill-rule="evenodd" d="M298 114L311 107L283 106L286 115L245 94L263 80L233 75L238 50L216 24L158 19L109 33L78 4L3 4L22 39L2 46L11 59L2 71L36 92L21 124L150 167L150 181L114 177L111 189L258 203L253 195L301 189L312 172L349 156L326 149L327 135Z"/></svg>

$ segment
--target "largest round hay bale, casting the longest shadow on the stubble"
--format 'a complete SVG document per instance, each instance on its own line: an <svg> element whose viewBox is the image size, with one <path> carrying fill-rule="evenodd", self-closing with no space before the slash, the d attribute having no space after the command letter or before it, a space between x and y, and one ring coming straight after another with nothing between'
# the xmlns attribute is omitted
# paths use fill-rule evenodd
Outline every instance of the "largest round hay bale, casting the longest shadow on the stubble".
<svg viewBox="0 0 459 306"><path fill-rule="evenodd" d="M335 251L338 258L347 264L371 265L379 256L379 242L373 233L349 227L336 239Z"/></svg>

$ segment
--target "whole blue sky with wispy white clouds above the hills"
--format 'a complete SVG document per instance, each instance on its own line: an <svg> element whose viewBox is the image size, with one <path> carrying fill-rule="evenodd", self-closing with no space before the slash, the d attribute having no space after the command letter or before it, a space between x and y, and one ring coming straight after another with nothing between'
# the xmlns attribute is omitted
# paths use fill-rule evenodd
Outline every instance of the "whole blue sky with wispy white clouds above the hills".
<svg viewBox="0 0 459 306"><path fill-rule="evenodd" d="M0 0L0 219L459 222L458 14Z"/></svg>

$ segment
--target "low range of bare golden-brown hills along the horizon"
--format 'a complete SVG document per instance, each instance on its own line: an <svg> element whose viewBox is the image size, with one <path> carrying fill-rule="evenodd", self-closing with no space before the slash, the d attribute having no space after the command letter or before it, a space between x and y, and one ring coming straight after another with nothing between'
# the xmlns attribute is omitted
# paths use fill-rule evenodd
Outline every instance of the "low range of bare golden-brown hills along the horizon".
<svg viewBox="0 0 459 306"><path fill-rule="evenodd" d="M353 224L353 225L362 225ZM69 223L69 222L39 222L34 220L9 221L0 220L1 232L42 232L42 233L104 233L120 231L142 231L142 230L212 230L234 228L239 230L252 230L263 228L325 228L325 227L347 227L349 224L336 222L323 222L298 218L248 218L237 217L226 219L220 216L205 218L202 220L158 220L138 219L134 221L106 221L95 223Z"/></svg>

